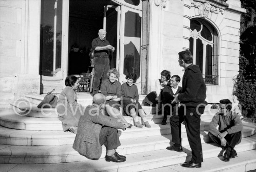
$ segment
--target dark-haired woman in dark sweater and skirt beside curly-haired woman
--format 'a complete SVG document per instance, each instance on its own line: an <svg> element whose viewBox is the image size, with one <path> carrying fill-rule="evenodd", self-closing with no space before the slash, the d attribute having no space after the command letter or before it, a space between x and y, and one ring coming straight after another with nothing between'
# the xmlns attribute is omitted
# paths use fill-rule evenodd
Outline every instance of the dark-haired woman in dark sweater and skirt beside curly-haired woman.
<svg viewBox="0 0 256 172"><path fill-rule="evenodd" d="M134 119L134 126L142 128L142 125L150 128L150 124L146 118L145 112L143 111L141 104L139 103L139 93L138 88L134 84L137 80L136 73L128 73L126 76L127 82L121 85L121 97L123 103L123 111L132 116ZM136 110L142 119L142 125L139 122L138 116L136 115Z"/></svg>

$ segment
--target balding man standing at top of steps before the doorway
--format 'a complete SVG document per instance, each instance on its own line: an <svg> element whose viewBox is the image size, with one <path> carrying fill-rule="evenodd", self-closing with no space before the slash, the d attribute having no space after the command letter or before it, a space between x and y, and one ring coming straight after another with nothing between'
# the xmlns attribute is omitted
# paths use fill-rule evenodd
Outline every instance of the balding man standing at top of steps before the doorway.
<svg viewBox="0 0 256 172"><path fill-rule="evenodd" d="M109 70L109 53L115 51L115 47L111 46L106 40L107 32L104 29L99 30L99 37L92 41L92 49L94 50L94 83L93 94L98 93L99 85L102 80L107 79Z"/></svg>

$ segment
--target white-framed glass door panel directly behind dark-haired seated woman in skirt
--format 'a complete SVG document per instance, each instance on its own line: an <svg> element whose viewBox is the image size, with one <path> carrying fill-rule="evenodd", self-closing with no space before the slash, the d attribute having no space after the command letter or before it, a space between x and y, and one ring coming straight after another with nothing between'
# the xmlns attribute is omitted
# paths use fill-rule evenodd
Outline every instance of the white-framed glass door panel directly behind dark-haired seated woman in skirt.
<svg viewBox="0 0 256 172"><path fill-rule="evenodd" d="M137 83L141 83L141 18L142 11L121 7L120 73L136 73Z"/></svg>

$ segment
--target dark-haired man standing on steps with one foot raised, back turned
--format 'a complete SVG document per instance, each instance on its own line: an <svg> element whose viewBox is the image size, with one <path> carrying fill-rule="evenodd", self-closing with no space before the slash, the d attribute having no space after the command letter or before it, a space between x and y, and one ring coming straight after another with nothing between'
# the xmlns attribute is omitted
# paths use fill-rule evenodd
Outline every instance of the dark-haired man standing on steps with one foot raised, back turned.
<svg viewBox="0 0 256 172"><path fill-rule="evenodd" d="M171 151L182 152L181 123L184 121L192 152L192 159L183 163L183 167L201 167L202 144L200 139L200 117L207 105L206 86L199 66L193 65L193 55L189 50L179 53L179 64L184 67L182 78L182 91L174 96L172 103L180 102L178 115L170 118L173 146L168 146Z"/></svg>

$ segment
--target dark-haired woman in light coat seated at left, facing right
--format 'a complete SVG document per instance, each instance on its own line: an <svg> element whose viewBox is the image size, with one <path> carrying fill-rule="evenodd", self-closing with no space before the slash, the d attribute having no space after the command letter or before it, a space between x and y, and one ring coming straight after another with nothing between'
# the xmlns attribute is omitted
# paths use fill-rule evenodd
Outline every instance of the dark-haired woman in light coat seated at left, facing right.
<svg viewBox="0 0 256 172"><path fill-rule="evenodd" d="M78 86L78 78L67 76L65 79L66 87L61 92L57 102L57 112L62 122L63 131L77 132L78 121L83 111L83 106L77 103L75 89Z"/></svg>

